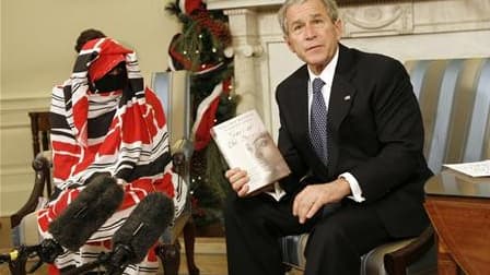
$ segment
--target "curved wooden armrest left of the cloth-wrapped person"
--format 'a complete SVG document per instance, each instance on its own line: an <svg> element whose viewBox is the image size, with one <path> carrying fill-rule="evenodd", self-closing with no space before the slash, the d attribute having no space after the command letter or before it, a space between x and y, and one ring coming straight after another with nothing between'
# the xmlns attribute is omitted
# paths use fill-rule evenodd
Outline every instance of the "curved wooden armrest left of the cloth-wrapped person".
<svg viewBox="0 0 490 275"><path fill-rule="evenodd" d="M24 205L10 216L11 228L18 226L23 217L36 210L46 184L50 184L50 160L44 152L37 154L32 163L32 167L35 171L33 190Z"/></svg>

